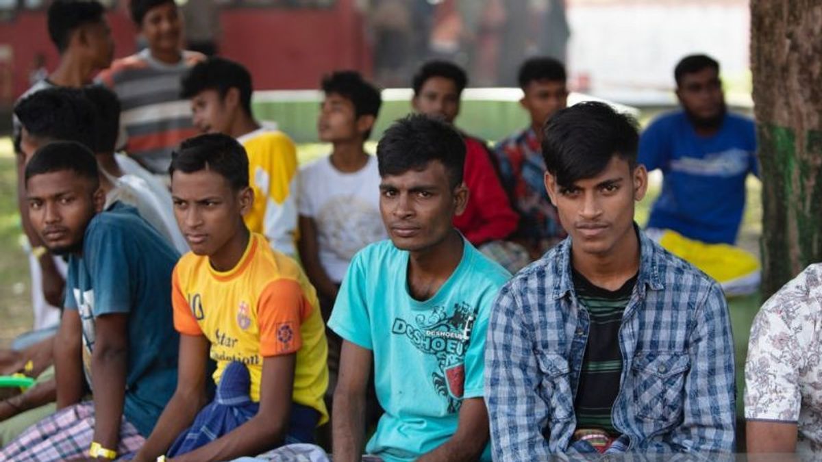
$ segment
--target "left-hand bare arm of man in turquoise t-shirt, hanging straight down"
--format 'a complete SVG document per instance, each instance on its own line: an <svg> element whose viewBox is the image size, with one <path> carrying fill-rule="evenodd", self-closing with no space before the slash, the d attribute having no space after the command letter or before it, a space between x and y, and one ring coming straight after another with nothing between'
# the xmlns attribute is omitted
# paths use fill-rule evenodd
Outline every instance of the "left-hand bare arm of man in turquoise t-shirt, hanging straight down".
<svg viewBox="0 0 822 462"><path fill-rule="evenodd" d="M372 352L344 340L340 356L334 390L332 446L335 461L355 462L361 459L365 446L365 395Z"/></svg>

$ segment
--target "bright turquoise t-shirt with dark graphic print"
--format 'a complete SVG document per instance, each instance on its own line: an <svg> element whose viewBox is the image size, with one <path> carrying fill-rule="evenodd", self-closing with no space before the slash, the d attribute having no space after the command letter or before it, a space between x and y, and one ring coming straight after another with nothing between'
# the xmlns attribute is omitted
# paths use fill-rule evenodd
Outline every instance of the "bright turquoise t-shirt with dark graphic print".
<svg viewBox="0 0 822 462"><path fill-rule="evenodd" d="M409 252L390 241L351 261L328 325L373 352L376 396L386 413L369 454L417 459L454 435L462 400L483 396L488 316L510 274L463 243L459 266L425 302L407 289ZM491 460L488 449L483 460Z"/></svg>

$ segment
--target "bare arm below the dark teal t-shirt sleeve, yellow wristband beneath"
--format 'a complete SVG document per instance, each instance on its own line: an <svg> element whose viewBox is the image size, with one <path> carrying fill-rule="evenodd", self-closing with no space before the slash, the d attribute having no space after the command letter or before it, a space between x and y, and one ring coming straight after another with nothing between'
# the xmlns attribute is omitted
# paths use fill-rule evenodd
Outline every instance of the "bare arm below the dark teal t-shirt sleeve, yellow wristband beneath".
<svg viewBox="0 0 822 462"><path fill-rule="evenodd" d="M91 354L91 385L95 390L94 441L106 448L119 446L127 365L128 314L97 316L95 348Z"/></svg>

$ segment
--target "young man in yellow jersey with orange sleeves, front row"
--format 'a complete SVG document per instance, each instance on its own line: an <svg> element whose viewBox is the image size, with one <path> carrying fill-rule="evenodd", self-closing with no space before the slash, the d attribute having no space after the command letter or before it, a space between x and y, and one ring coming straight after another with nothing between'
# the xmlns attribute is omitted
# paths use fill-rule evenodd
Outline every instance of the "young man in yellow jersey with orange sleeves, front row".
<svg viewBox="0 0 822 462"><path fill-rule="evenodd" d="M172 276L178 385L136 460L154 460L169 447L174 460L257 455L312 442L328 419L316 291L295 261L248 231L242 215L254 196L247 169L245 150L223 134L184 141L172 157L174 215L192 248ZM206 406L209 356L219 385Z"/></svg>

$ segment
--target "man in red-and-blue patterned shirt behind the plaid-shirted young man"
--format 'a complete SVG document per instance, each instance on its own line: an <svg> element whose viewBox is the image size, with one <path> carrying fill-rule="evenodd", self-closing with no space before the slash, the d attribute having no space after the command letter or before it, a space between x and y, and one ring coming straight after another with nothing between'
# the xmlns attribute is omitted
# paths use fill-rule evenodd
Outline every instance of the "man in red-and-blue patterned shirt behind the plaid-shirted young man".
<svg viewBox="0 0 822 462"><path fill-rule="evenodd" d="M520 104L528 111L531 125L497 143L494 155L502 187L520 214L520 226L511 238L537 260L566 237L556 206L545 191L545 162L540 147L545 122L566 108L565 66L554 58L530 58L520 67L519 81L523 91Z"/></svg>

